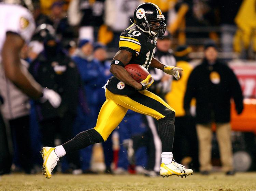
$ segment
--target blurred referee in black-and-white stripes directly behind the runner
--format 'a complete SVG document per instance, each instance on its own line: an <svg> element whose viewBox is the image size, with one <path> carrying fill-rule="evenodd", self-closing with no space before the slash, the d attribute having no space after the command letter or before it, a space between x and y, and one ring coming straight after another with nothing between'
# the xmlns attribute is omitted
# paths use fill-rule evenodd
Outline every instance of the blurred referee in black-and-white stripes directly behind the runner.
<svg viewBox="0 0 256 191"><path fill-rule="evenodd" d="M171 34L166 31L163 39L158 38L157 40L154 57L163 64L175 66L176 60L173 56L173 51L170 48L171 45ZM154 79L154 83L150 88L148 88L148 90L155 93L162 99L165 99L166 93L170 91L172 76L165 74L162 70L152 67L149 67L148 71ZM149 140L154 140L148 142L148 175L156 176L159 172L162 152L161 140L158 135L158 121L150 116L143 116L143 118L149 127Z"/></svg>

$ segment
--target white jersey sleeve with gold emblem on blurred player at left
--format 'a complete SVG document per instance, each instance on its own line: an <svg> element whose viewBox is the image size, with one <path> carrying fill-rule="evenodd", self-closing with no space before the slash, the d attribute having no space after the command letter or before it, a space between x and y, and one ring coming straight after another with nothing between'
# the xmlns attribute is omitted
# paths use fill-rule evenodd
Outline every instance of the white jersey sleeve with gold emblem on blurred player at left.
<svg viewBox="0 0 256 191"><path fill-rule="evenodd" d="M0 3L0 55L6 32L17 33L25 42L29 42L34 30L34 18L27 8L15 4Z"/></svg>

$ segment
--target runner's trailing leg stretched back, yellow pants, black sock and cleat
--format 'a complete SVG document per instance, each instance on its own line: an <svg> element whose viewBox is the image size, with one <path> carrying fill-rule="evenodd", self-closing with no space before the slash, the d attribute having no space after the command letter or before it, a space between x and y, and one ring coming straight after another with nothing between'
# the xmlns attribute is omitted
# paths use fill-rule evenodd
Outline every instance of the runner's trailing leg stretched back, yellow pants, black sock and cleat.
<svg viewBox="0 0 256 191"><path fill-rule="evenodd" d="M55 148L43 147L41 153L44 159L43 171L46 178L51 178L52 170L60 157L91 144L105 141L111 132L122 121L128 109L116 104L113 100L106 99L102 105L97 124L94 128L81 132L70 141ZM54 151L54 152L53 152Z"/></svg>

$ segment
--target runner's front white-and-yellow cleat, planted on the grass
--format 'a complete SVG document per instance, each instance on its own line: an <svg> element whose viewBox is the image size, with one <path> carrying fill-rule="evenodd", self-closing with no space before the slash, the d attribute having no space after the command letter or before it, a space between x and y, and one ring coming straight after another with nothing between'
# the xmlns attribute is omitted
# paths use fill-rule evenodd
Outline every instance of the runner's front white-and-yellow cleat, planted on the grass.
<svg viewBox="0 0 256 191"><path fill-rule="evenodd" d="M160 175L162 177L176 175L181 176L182 178L183 176L186 178L188 175L193 175L192 169L185 169L184 167L185 166L175 162L174 160L170 164L162 163L160 166Z"/></svg>

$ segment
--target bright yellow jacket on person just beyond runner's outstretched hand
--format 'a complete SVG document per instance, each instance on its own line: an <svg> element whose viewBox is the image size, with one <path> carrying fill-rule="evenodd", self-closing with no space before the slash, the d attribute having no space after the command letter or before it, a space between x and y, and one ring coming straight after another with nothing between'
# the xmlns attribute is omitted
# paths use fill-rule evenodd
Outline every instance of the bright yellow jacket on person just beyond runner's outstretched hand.
<svg viewBox="0 0 256 191"><path fill-rule="evenodd" d="M193 70L193 67L186 61L178 61L176 67L182 68L180 80L173 80L171 84L171 91L166 94L167 103L175 110L176 117L185 116L183 108L184 95L187 88L188 77Z"/></svg>

